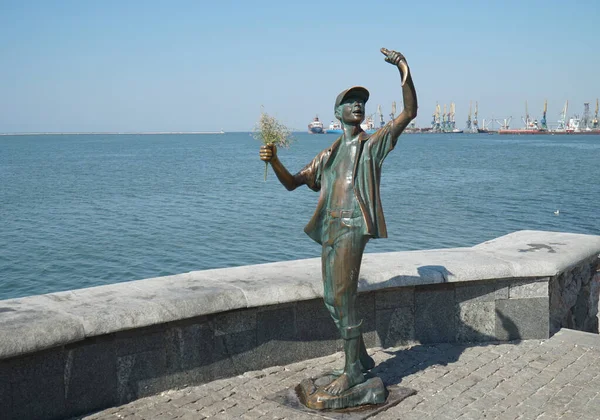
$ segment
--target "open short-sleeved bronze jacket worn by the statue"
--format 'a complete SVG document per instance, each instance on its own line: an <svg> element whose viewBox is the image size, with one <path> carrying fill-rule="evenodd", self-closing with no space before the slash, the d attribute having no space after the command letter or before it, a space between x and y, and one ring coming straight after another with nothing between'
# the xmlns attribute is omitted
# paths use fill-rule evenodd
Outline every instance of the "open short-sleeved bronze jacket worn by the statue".
<svg viewBox="0 0 600 420"><path fill-rule="evenodd" d="M372 238L387 238L379 184L383 160L396 145L396 139L391 135L392 127L393 121L390 121L371 135L364 131L359 134L359 148L353 170L354 194L363 215L364 234ZM326 208L326 194L321 190L321 179L325 168L334 162L341 141L342 137L339 137L331 147L320 152L296 174L310 189L321 191L315 213L304 228L306 234L319 244L323 243L323 229L330 220Z"/></svg>

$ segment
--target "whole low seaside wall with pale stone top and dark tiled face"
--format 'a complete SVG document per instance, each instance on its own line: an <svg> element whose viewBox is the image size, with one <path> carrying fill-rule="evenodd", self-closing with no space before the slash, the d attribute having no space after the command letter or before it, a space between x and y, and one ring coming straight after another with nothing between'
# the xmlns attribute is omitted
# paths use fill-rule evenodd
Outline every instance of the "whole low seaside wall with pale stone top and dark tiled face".
<svg viewBox="0 0 600 420"><path fill-rule="evenodd" d="M599 236L520 231L472 248L366 254L365 342L547 338L568 319L593 328L599 252ZM334 353L321 297L309 259L0 301L0 412L62 418Z"/></svg>

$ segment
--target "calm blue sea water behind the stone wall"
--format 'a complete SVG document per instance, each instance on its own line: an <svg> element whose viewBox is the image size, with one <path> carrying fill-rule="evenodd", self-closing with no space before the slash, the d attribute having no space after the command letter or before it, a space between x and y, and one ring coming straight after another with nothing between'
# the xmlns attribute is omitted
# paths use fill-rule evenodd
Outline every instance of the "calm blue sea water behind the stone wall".
<svg viewBox="0 0 600 420"><path fill-rule="evenodd" d="M296 138L290 171L335 140ZM318 257L303 232L318 194L270 169L264 182L258 147L248 133L0 136L0 299ZM600 235L600 136L403 135L381 189L389 238L367 252Z"/></svg>

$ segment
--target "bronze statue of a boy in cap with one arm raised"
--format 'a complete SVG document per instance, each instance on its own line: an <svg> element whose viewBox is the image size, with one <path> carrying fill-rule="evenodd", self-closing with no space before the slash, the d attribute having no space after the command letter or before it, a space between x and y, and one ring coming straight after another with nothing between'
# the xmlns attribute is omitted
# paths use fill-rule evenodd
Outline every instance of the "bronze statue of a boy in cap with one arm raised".
<svg viewBox="0 0 600 420"><path fill-rule="evenodd" d="M400 71L404 110L398 117L374 134L365 133L360 124L365 119L369 92L356 86L341 92L335 101L342 136L300 172L288 172L274 145L262 146L260 150L260 158L271 163L289 191L306 184L321 192L315 213L304 230L323 247L325 306L344 340L343 372L323 388L332 396L364 382L364 373L375 366L367 354L362 320L356 310L360 264L367 241L387 237L379 193L383 160L417 115L417 96L404 56L385 48L381 52L385 61Z"/></svg>

